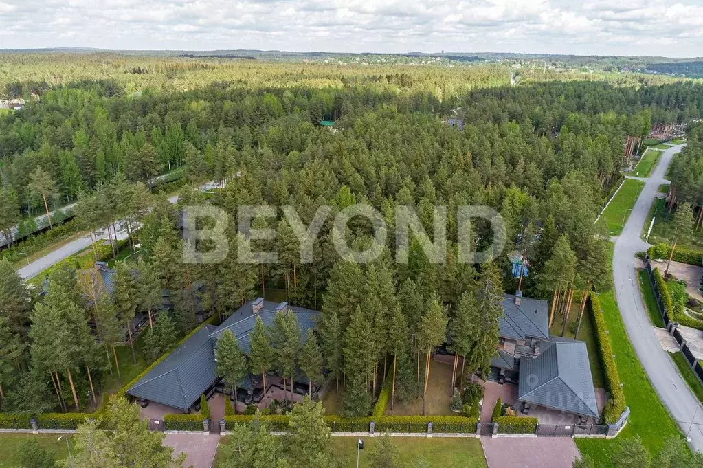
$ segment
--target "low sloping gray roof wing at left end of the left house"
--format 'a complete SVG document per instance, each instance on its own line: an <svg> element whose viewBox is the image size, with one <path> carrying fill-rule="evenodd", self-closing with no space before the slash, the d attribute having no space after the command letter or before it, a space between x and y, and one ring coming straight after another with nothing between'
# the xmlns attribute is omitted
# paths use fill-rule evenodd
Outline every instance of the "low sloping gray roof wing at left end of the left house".
<svg viewBox="0 0 703 468"><path fill-rule="evenodd" d="M217 382L212 339L217 330L205 325L158 363L127 394L186 411Z"/></svg>

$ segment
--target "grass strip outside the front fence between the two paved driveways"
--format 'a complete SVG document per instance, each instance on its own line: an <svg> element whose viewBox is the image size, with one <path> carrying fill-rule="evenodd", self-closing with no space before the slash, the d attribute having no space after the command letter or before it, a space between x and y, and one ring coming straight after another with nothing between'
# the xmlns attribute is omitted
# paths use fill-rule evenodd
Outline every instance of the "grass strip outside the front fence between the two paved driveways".
<svg viewBox="0 0 703 468"><path fill-rule="evenodd" d="M229 436L222 438L212 466L217 468L224 462L223 444ZM363 437L363 450L359 453L359 466L370 466L369 455L377 439ZM412 467L413 462L422 455L427 460L427 466L437 468L483 468L486 459L477 438L423 438L423 437L394 437L393 443L400 454L400 466ZM334 436L330 443L337 467L356 467L356 437Z"/></svg>

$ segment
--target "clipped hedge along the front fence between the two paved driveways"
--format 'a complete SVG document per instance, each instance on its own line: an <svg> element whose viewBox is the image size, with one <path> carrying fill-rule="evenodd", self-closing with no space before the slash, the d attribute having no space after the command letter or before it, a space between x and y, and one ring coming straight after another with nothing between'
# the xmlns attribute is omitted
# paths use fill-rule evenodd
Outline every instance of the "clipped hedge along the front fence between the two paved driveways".
<svg viewBox="0 0 703 468"><path fill-rule="evenodd" d="M257 419L269 424L272 431L288 430L287 415L237 415L225 416L227 429L234 424L248 424ZM368 432L371 422L375 432L394 432L405 434L425 434L427 424L432 423L432 431L439 434L475 434L476 418L462 416L378 416L378 417L342 417L325 416L325 423L333 432Z"/></svg>

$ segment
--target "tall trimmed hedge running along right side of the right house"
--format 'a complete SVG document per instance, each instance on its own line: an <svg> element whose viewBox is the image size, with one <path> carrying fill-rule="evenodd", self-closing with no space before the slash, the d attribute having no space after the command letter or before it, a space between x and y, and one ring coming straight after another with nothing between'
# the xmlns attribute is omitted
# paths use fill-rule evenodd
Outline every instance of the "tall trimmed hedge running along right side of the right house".
<svg viewBox="0 0 703 468"><path fill-rule="evenodd" d="M610 395L610 400L603 408L603 419L607 424L616 423L622 412L625 410L625 394L620 386L620 376L617 372L617 365L613 358L612 346L608 337L605 318L600 312L600 299L595 292L588 295L588 303L591 308L591 319L595 327L595 337L598 340L598 353L603 366L605 376L605 388Z"/></svg>

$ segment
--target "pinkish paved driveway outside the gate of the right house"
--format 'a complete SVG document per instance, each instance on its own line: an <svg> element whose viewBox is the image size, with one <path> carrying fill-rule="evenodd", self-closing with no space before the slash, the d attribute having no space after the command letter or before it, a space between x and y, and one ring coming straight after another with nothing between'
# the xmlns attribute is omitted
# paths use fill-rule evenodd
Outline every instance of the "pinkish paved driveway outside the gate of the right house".
<svg viewBox="0 0 703 468"><path fill-rule="evenodd" d="M482 437L488 468L571 468L581 457L571 437Z"/></svg>

